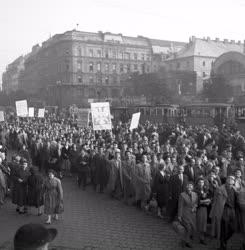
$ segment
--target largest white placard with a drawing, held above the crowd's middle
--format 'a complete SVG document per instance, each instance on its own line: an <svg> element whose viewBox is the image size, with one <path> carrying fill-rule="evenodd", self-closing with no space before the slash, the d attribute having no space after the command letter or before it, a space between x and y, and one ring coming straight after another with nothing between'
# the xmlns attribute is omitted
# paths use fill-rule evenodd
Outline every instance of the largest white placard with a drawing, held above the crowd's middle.
<svg viewBox="0 0 245 250"><path fill-rule="evenodd" d="M94 130L111 130L111 113L109 102L91 103Z"/></svg>

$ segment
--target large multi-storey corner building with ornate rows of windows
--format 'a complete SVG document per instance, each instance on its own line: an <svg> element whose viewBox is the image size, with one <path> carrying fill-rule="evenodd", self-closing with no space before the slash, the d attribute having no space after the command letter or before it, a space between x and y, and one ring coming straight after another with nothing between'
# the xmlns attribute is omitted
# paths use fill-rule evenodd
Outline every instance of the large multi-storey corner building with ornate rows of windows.
<svg viewBox="0 0 245 250"><path fill-rule="evenodd" d="M19 88L50 105L118 98L130 75L157 71L185 43L122 34L67 31L34 46L24 62Z"/></svg>

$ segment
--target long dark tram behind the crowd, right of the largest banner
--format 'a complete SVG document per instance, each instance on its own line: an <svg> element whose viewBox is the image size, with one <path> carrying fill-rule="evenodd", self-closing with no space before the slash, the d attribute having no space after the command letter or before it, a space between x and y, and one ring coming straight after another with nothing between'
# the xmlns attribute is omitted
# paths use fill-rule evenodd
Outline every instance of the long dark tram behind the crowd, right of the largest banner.
<svg viewBox="0 0 245 250"><path fill-rule="evenodd" d="M133 113L140 112L141 122L150 120L157 123L185 123L187 125L219 125L227 123L228 120L233 119L235 116L234 106L226 103L112 107L111 112L114 118L123 122L127 122ZM245 105L243 115L245 121Z"/></svg>

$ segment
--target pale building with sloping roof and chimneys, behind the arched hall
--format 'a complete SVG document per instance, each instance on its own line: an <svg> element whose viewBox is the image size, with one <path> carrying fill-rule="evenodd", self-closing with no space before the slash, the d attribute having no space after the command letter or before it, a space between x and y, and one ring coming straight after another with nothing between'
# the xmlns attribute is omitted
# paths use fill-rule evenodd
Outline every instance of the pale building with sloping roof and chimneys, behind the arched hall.
<svg viewBox="0 0 245 250"><path fill-rule="evenodd" d="M214 61L230 51L242 53L243 44L234 40L220 41L218 38L211 40L209 37L200 39L193 36L182 50L165 61L165 66L168 71L195 71L195 85L199 93L203 89L203 81L210 76Z"/></svg>

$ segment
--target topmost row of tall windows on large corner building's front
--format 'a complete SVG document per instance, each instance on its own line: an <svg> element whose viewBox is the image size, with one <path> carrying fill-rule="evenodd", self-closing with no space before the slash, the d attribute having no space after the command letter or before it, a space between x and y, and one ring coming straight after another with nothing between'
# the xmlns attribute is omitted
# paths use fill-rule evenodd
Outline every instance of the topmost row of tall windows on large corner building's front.
<svg viewBox="0 0 245 250"><path fill-rule="evenodd" d="M81 48L78 48L78 56L86 56ZM149 54L145 53L129 53L129 52L123 52L123 51L116 51L116 50L105 50L104 53L102 50L94 50L89 49L88 50L88 56L89 57L99 57L99 58L112 58L112 59L121 59L121 60L141 60L141 61L150 61L151 57Z"/></svg>

